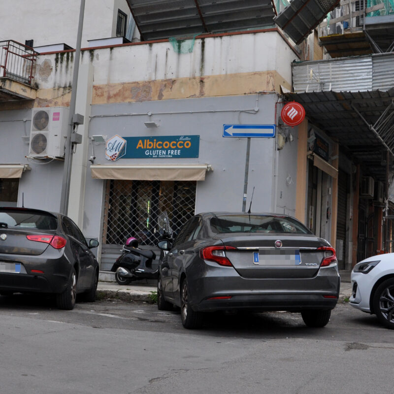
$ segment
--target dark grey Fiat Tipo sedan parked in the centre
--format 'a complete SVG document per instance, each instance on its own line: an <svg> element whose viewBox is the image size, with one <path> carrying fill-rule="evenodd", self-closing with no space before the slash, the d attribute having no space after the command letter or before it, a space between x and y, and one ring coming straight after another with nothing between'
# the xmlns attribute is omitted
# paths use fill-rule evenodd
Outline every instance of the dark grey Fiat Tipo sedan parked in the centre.
<svg viewBox="0 0 394 394"><path fill-rule="evenodd" d="M158 246L158 308L179 306L185 328L219 310L300 312L324 327L338 301L335 250L290 216L201 213Z"/></svg>

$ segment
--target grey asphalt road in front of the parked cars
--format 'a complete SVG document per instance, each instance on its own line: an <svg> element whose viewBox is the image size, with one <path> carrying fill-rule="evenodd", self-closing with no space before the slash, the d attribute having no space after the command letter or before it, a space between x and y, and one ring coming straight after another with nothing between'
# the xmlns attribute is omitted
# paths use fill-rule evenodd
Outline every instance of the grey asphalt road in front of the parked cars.
<svg viewBox="0 0 394 394"><path fill-rule="evenodd" d="M347 303L325 328L299 314L211 316L119 300L59 311L0 297L0 393L389 393L394 331Z"/></svg>

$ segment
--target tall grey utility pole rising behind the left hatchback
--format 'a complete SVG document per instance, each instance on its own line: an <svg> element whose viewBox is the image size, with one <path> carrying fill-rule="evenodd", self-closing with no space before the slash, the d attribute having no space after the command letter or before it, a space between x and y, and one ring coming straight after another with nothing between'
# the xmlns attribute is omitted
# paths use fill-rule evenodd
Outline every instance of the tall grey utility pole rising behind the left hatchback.
<svg viewBox="0 0 394 394"><path fill-rule="evenodd" d="M81 54L82 27L83 27L84 12L85 12L85 0L81 0L81 7L79 10L77 43L76 43L76 47L75 47L74 68L73 68L72 83L71 83L70 114L68 117L68 130L67 130L67 137L66 137L65 166L63 169L62 195L61 195L61 199L60 199L60 212L65 215L67 215L68 197L69 197L69 191L70 191L71 164L72 164L71 134L73 131L73 116L75 113L75 102L76 102L76 96L77 96L79 57Z"/></svg>

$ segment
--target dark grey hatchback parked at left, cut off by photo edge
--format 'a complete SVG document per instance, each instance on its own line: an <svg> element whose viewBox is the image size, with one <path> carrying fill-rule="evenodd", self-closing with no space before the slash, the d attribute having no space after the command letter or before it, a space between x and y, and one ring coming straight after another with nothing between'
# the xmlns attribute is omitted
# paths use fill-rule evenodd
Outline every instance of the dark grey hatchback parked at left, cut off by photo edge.
<svg viewBox="0 0 394 394"><path fill-rule="evenodd" d="M60 213L0 207L0 295L50 293L60 309L73 309L77 293L94 301L98 245Z"/></svg>

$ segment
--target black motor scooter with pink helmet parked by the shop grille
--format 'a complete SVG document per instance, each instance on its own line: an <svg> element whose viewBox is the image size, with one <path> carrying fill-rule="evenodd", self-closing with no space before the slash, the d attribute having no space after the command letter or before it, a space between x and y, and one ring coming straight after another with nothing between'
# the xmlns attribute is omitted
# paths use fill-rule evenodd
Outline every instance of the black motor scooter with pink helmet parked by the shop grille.
<svg viewBox="0 0 394 394"><path fill-rule="evenodd" d="M137 279L157 279L158 263L154 263L156 254L152 250L138 248L138 241L129 237L121 249L122 255L116 259L111 271L120 285L128 285Z"/></svg>

